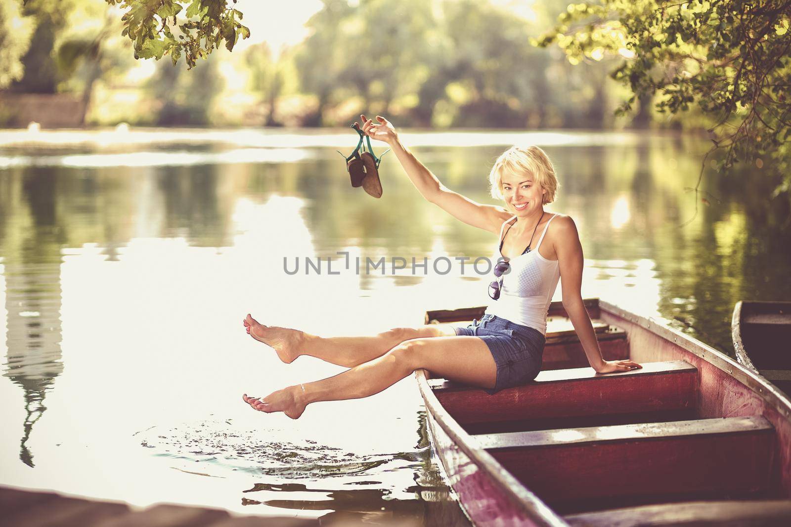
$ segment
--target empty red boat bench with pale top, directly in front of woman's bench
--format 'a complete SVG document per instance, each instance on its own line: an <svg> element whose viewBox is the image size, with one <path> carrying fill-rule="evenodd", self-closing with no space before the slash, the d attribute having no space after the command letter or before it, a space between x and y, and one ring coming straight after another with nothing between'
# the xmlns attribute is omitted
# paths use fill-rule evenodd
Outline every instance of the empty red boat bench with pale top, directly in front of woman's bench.
<svg viewBox="0 0 791 527"><path fill-rule="evenodd" d="M763 416L474 435L563 513L674 499L763 497L774 427Z"/></svg>

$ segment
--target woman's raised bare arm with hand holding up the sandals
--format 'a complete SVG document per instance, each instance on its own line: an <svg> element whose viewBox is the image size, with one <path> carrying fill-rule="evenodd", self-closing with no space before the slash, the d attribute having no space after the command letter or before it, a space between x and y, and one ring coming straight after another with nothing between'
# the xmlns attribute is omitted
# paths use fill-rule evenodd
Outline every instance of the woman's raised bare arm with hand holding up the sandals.
<svg viewBox="0 0 791 527"><path fill-rule="evenodd" d="M457 220L464 221L465 224L482 228L484 231L500 232L502 222L511 217L508 211L495 205L483 205L472 201L458 192L448 189L399 141L398 134L387 119L377 115L378 123L374 123L371 119L365 119L365 115L360 117L363 120L362 130L365 134L368 134L372 139L384 141L390 146L403 170L407 172L410 181L423 198L445 210Z"/></svg>

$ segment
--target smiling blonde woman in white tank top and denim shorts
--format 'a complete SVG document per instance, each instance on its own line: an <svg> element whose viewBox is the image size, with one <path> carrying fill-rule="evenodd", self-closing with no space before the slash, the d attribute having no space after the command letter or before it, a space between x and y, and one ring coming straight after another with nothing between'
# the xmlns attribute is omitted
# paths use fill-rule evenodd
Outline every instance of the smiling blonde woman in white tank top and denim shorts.
<svg viewBox="0 0 791 527"><path fill-rule="evenodd" d="M399 141L392 124L361 115L362 130L386 142L423 198L473 227L499 235L501 260L490 284L492 302L480 321L467 327L433 324L395 328L371 337L316 337L296 329L263 326L249 314L248 333L274 348L283 362L301 355L349 367L339 375L243 399L262 412L285 412L297 419L316 401L368 397L425 368L434 377L481 386L495 393L538 375L547 308L562 277L563 307L579 335L591 366L600 373L626 371L631 360L602 359L591 320L582 303L582 247L569 216L547 213L558 183L544 152L513 147L490 174L492 195L504 206L481 205L443 186ZM522 251L524 248L524 251ZM520 252L522 251L522 252Z"/></svg>

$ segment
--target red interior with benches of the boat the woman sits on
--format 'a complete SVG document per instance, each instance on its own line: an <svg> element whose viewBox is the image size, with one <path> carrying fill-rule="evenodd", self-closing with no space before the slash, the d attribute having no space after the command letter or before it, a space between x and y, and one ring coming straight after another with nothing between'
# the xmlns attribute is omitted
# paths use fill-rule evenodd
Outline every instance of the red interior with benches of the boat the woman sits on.
<svg viewBox="0 0 791 527"><path fill-rule="evenodd" d="M789 416L737 380L727 363L725 370L715 366L699 349L688 351L687 344L596 303L588 309L605 359L643 365L597 375L562 321L562 307L553 307L556 323L547 329L544 367L535 381L494 395L428 381L471 445L538 499L574 525L589 525L586 517L590 525L608 525L601 515L608 509L651 506L672 516L666 504L683 503L684 510L706 516L713 513L705 503L745 503L747 514L758 510L752 500L791 498ZM469 319L478 313L467 311ZM791 518L791 506L777 503L774 513Z"/></svg>

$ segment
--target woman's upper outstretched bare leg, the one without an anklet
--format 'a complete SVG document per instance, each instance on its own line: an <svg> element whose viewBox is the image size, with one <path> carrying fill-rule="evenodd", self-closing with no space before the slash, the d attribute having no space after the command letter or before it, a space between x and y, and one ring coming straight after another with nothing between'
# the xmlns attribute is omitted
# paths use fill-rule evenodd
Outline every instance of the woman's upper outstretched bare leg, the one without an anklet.
<svg viewBox="0 0 791 527"><path fill-rule="evenodd" d="M244 327L256 341L274 348L284 363L308 355L339 366L354 367L384 355L395 345L420 337L454 337L449 324L430 324L416 328L394 328L377 335L361 337L317 337L297 329L264 326L249 314Z"/></svg>

